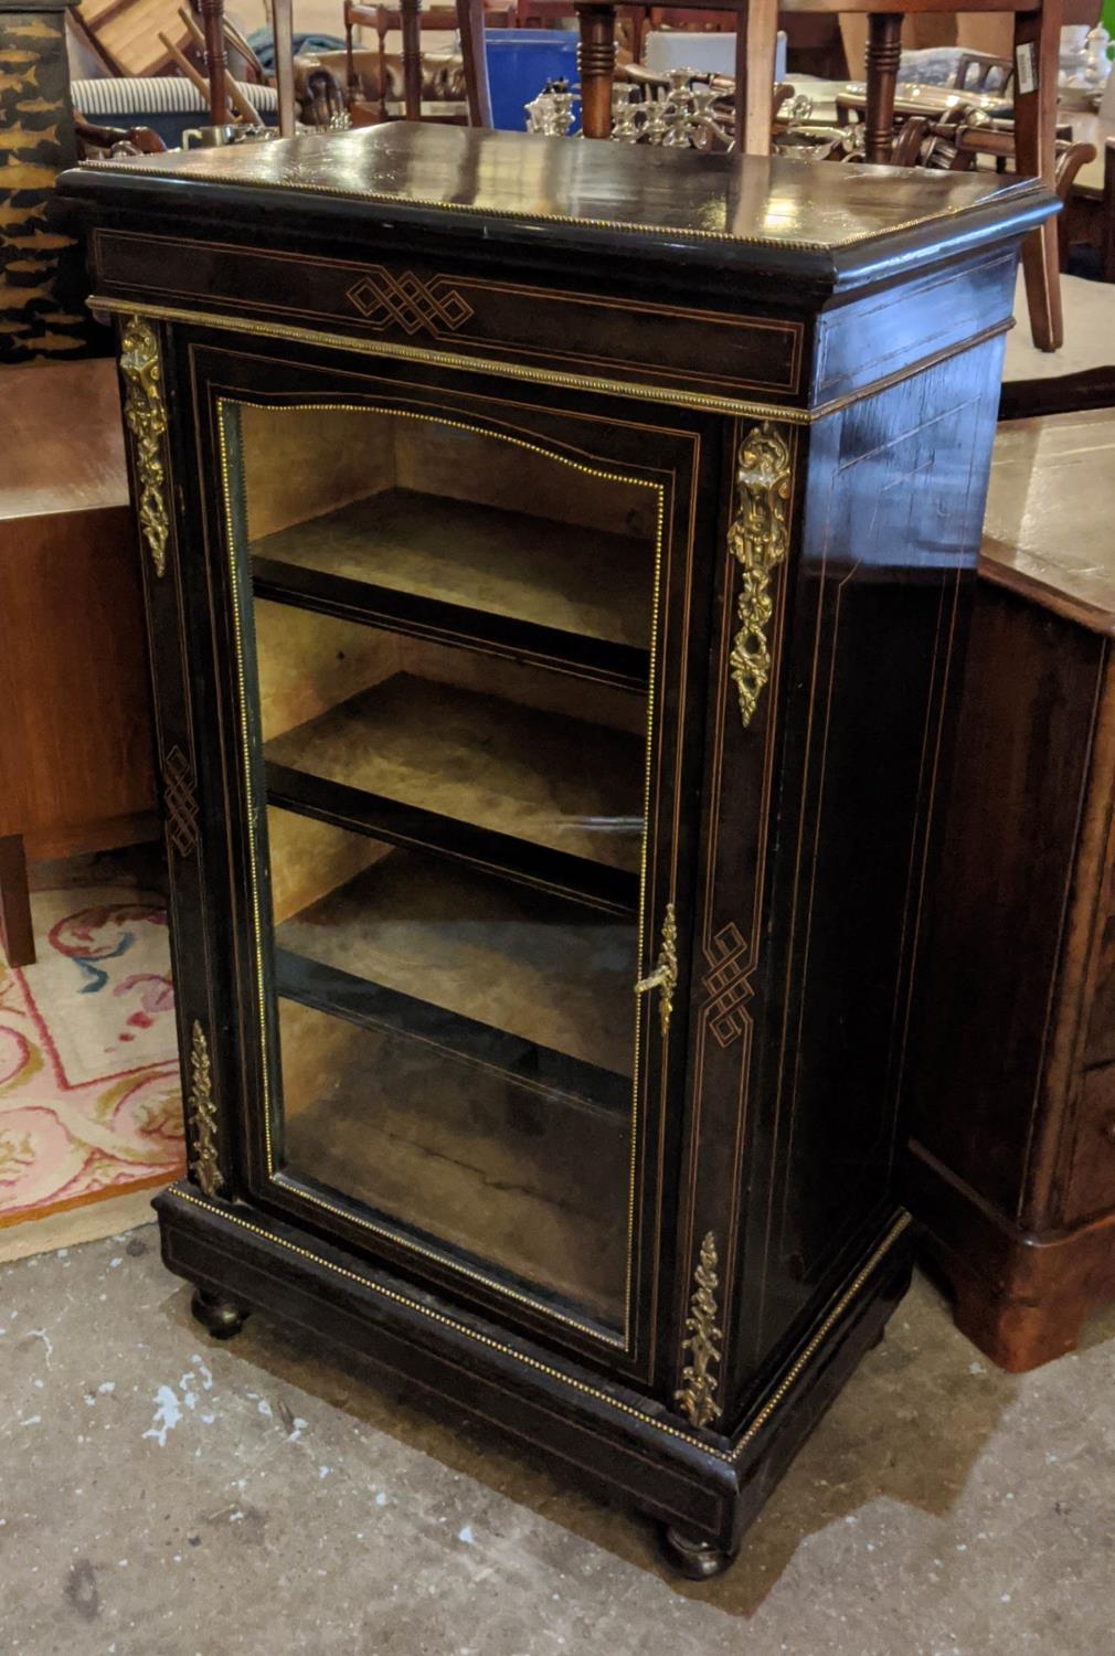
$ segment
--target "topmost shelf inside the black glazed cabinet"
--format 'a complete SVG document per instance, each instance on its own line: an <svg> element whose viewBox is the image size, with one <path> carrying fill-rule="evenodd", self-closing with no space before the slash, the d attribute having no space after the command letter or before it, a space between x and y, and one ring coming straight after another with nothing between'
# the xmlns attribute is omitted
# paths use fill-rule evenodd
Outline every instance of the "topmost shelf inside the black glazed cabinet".
<svg viewBox="0 0 1115 1656"><path fill-rule="evenodd" d="M646 540L391 489L252 542L280 603L646 687Z"/></svg>

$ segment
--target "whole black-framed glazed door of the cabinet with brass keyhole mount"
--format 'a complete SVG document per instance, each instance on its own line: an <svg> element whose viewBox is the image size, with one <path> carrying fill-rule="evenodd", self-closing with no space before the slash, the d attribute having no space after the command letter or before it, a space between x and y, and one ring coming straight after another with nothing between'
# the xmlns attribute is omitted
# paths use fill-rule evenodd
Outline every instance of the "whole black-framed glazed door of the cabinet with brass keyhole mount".
<svg viewBox="0 0 1115 1656"><path fill-rule="evenodd" d="M172 346L224 1187L648 1378L719 432L282 349Z"/></svg>

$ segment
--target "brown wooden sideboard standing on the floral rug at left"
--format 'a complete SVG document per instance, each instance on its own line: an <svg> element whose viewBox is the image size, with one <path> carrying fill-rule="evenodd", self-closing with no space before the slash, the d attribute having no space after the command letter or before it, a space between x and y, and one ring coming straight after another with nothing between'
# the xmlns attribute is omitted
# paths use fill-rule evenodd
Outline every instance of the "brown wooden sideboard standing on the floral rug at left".
<svg viewBox="0 0 1115 1656"><path fill-rule="evenodd" d="M0 946L20 965L25 856L126 845L154 780L116 364L8 368L0 391Z"/></svg>

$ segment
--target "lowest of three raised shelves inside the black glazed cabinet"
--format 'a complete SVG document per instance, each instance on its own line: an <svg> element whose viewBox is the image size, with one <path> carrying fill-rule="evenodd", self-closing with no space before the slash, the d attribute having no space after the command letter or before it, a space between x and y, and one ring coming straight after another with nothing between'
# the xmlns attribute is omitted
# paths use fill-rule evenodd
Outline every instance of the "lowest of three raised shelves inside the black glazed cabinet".
<svg viewBox="0 0 1115 1656"><path fill-rule="evenodd" d="M278 951L631 1076L636 927L391 850L275 929Z"/></svg>

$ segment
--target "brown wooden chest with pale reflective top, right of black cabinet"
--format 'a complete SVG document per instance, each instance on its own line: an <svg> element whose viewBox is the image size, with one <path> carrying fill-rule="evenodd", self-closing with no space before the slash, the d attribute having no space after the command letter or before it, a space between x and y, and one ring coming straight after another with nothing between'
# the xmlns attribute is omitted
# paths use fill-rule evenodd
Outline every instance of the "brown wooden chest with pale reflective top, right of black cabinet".
<svg viewBox="0 0 1115 1656"><path fill-rule="evenodd" d="M1115 409L999 427L910 1202L956 1321L1021 1371L1115 1297Z"/></svg>

